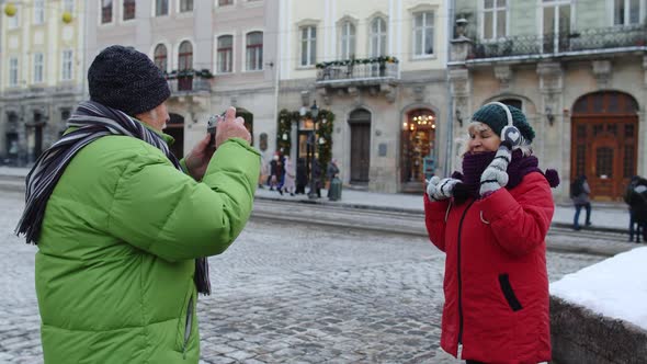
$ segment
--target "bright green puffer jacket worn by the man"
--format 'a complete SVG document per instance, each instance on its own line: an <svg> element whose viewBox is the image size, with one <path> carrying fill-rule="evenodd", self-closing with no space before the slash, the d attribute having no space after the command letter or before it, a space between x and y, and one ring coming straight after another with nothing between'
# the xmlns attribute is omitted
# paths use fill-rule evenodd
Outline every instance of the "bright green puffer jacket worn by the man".
<svg viewBox="0 0 647 364"><path fill-rule="evenodd" d="M197 363L194 259L240 234L259 170L259 153L237 138L218 148L202 183L136 138L81 149L38 240L45 362Z"/></svg>

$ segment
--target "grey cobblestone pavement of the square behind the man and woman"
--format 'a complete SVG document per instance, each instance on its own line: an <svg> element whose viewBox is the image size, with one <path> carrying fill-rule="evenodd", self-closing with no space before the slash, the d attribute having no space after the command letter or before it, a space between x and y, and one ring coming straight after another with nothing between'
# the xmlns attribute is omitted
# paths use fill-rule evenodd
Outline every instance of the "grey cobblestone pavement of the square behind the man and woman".
<svg viewBox="0 0 647 364"><path fill-rule="evenodd" d="M0 363L42 363L36 248L12 235L22 196L0 206ZM549 253L549 277L601 259ZM251 221L209 260L202 363L455 363L438 348L444 257L424 238Z"/></svg>

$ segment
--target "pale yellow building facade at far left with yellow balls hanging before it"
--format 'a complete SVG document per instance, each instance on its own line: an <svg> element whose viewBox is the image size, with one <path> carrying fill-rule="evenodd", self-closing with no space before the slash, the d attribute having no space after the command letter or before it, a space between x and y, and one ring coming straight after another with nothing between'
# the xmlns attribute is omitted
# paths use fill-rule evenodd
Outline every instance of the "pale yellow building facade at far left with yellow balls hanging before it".
<svg viewBox="0 0 647 364"><path fill-rule="evenodd" d="M58 139L82 98L84 1L23 0L2 10L0 161L25 166Z"/></svg>

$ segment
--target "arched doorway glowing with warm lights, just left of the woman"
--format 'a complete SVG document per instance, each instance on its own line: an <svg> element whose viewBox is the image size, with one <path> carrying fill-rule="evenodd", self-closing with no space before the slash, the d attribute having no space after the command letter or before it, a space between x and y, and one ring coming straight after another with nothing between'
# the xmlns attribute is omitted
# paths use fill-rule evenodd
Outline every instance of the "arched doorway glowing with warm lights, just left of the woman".
<svg viewBox="0 0 647 364"><path fill-rule="evenodd" d="M435 169L435 114L429 109L407 113L402 124L400 181L402 192L420 192Z"/></svg>

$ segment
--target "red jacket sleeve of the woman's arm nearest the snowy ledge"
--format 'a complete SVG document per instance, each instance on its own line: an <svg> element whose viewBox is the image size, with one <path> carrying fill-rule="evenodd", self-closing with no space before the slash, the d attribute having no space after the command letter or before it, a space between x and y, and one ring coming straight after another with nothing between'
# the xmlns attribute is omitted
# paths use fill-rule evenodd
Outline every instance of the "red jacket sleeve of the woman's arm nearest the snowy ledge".
<svg viewBox="0 0 647 364"><path fill-rule="evenodd" d="M486 197L481 208L499 246L523 255L544 244L555 204L544 175L533 172L511 191L500 189Z"/></svg>

